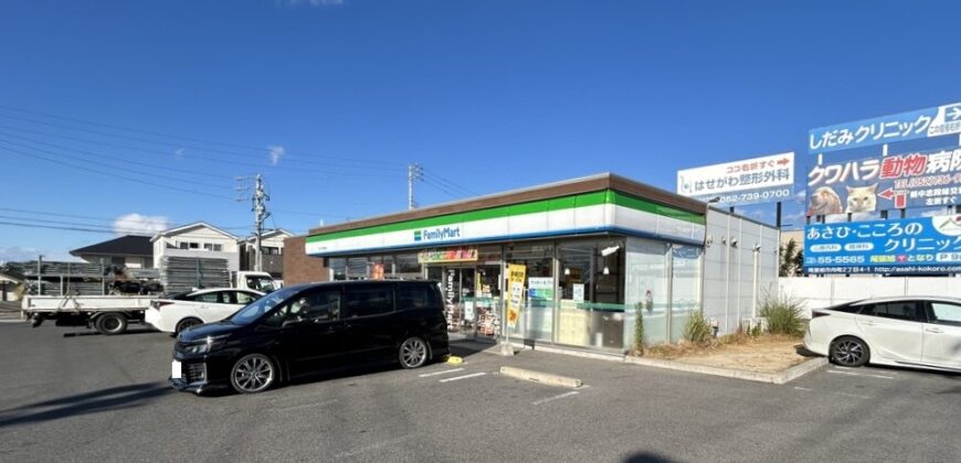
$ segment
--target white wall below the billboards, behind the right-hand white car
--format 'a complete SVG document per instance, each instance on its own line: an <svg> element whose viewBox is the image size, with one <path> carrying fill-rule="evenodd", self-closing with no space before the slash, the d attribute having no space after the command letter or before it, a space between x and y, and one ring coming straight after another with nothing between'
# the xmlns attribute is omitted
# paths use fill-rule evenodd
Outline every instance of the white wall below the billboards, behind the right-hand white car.
<svg viewBox="0 0 961 463"><path fill-rule="evenodd" d="M781 278L781 295L793 297L811 310L867 298L897 295L943 295L961 298L961 278L884 277L884 278Z"/></svg>

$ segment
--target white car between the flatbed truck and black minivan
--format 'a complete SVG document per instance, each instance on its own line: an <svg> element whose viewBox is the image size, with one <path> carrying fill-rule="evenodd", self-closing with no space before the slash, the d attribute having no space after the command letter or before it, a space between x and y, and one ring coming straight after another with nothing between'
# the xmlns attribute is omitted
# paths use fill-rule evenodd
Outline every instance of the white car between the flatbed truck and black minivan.
<svg viewBox="0 0 961 463"><path fill-rule="evenodd" d="M202 289L154 301L144 321L159 331L177 334L190 326L223 320L262 295L246 289Z"/></svg>

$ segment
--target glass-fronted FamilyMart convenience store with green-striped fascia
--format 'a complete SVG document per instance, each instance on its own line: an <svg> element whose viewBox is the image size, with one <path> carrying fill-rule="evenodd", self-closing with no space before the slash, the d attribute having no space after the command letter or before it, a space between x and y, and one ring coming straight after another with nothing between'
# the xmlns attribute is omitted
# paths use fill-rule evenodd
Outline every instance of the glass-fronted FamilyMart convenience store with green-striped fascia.
<svg viewBox="0 0 961 463"><path fill-rule="evenodd" d="M441 283L451 330L494 338L522 269L511 340L624 352L680 338L700 308L705 204L603 174L311 230L331 279Z"/></svg>

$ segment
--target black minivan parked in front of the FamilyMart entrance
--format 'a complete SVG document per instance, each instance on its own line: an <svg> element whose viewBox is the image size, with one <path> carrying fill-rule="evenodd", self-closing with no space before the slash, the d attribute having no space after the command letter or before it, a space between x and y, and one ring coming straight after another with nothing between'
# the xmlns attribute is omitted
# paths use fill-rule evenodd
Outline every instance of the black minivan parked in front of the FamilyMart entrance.
<svg viewBox="0 0 961 463"><path fill-rule="evenodd" d="M294 376L394 359L416 368L450 354L441 291L430 281L338 281L271 292L230 317L182 331L170 383L197 394L260 392Z"/></svg>

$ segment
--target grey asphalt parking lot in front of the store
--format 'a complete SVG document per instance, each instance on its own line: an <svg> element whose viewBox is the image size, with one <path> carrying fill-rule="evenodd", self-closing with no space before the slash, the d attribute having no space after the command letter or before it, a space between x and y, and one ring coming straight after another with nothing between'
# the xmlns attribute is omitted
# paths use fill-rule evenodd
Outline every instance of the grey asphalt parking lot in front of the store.
<svg viewBox="0 0 961 463"><path fill-rule="evenodd" d="M462 365L197 397L167 386L171 346L0 323L0 461L961 460L959 375L828 366L773 386L458 343Z"/></svg>

